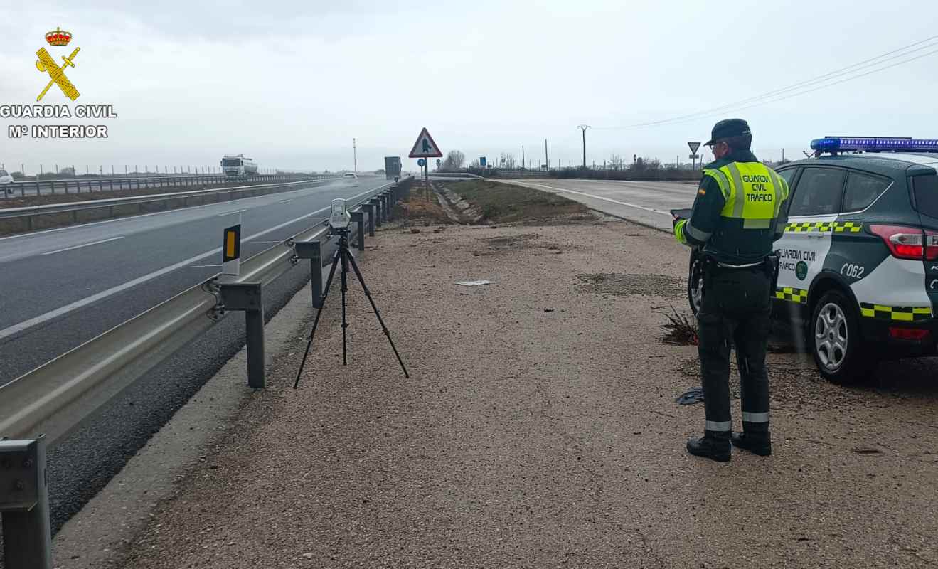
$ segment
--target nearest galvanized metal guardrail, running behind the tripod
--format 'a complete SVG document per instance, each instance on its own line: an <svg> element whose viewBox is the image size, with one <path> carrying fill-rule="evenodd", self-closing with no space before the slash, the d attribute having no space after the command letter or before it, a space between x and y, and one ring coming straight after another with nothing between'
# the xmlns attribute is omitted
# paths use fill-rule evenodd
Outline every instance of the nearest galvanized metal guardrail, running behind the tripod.
<svg viewBox="0 0 938 569"><path fill-rule="evenodd" d="M406 178L399 184L388 183L356 205L364 205L365 212L377 210L370 222L380 225L412 182ZM355 225L353 237L360 247L365 237L363 217ZM211 277L0 387L0 437L35 439L41 433L47 444L54 445L150 368L224 318L226 286L250 283L263 290L298 261L296 244L321 242L324 235L322 224L299 232L242 262L238 277ZM324 246L325 254L328 241ZM316 277L314 270L314 285ZM321 289L321 273L318 277ZM250 378L249 383L260 387L264 379Z"/></svg>

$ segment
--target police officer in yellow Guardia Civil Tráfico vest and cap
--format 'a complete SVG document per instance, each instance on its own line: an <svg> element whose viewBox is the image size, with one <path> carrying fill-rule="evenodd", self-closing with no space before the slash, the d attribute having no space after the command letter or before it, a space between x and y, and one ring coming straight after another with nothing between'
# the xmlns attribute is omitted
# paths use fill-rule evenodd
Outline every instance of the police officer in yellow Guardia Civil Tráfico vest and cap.
<svg viewBox="0 0 938 569"><path fill-rule="evenodd" d="M674 237L703 251L703 300L697 314L706 424L703 438L688 440L688 452L725 462L732 445L767 457L768 424L765 350L778 259L772 244L785 230L788 185L749 147L746 121L722 120L713 127L714 162L703 167L693 213L674 217ZM735 345L741 379L743 432L733 433L730 416L730 349Z"/></svg>

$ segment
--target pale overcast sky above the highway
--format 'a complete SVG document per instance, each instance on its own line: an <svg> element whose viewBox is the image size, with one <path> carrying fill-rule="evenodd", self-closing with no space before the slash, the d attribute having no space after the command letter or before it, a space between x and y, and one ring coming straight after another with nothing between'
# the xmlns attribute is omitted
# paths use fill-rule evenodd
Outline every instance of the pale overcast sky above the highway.
<svg viewBox="0 0 938 569"><path fill-rule="evenodd" d="M105 141L7 137L0 162L217 166L245 153L268 167L383 166L406 158L420 127L443 151L510 152L574 164L613 154L688 160L724 116L749 120L754 150L796 157L825 134L938 138L938 53L749 109L628 128L713 109L938 35L933 0L451 3L0 0L0 104L33 104L35 67L75 47L71 103L111 104ZM722 8L719 8L722 7ZM72 32L68 48L45 33ZM934 41L934 40L933 40ZM938 48L935 48L938 49ZM915 52L915 55L933 50ZM43 120L44 124L76 121ZM623 128L627 127L627 128ZM709 157L707 155L707 157ZM537 165L537 161L535 161ZM132 166L131 166L132 167ZM152 166L151 166L152 168Z"/></svg>

